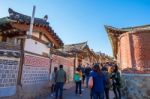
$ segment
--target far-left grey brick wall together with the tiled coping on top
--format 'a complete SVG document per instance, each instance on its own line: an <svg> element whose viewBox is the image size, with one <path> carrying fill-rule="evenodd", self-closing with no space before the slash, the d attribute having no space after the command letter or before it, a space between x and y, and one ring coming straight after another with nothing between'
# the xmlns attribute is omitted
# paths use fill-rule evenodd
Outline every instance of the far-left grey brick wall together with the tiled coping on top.
<svg viewBox="0 0 150 99"><path fill-rule="evenodd" d="M19 64L20 46L0 42L0 98L16 93Z"/></svg>

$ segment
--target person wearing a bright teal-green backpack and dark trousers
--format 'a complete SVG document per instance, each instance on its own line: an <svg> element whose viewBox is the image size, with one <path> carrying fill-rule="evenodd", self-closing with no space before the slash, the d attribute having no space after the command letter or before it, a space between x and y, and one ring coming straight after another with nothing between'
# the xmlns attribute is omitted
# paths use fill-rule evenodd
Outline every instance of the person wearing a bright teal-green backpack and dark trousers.
<svg viewBox="0 0 150 99"><path fill-rule="evenodd" d="M82 95L82 71L80 68L77 68L75 74L74 74L74 81L76 84L75 94Z"/></svg>

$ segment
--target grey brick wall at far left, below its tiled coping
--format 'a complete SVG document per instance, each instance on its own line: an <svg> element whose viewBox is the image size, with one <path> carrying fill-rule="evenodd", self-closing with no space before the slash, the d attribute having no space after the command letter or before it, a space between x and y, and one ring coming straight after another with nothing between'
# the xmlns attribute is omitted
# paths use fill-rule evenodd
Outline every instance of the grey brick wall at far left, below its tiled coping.
<svg viewBox="0 0 150 99"><path fill-rule="evenodd" d="M19 60L0 57L0 97L16 93Z"/></svg>

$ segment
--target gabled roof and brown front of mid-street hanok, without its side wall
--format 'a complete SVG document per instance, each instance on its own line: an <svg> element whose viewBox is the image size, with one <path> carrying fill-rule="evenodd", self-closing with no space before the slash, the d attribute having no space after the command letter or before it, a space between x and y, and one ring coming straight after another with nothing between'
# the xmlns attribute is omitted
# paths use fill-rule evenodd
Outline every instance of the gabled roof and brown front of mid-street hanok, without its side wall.
<svg viewBox="0 0 150 99"><path fill-rule="evenodd" d="M76 62L75 66L77 67L79 64L87 65L95 62L95 54L90 50L87 42L81 42L76 44L64 45L61 51L65 51L68 53L72 53L75 55Z"/></svg>

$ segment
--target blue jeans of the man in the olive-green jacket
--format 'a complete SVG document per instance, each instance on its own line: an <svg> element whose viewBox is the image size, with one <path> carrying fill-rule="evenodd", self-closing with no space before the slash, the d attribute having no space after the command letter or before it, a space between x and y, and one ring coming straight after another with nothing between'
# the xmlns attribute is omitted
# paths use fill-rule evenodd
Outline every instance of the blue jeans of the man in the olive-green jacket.
<svg viewBox="0 0 150 99"><path fill-rule="evenodd" d="M58 93L60 95L60 98L62 98L63 95L63 87L64 87L64 83L63 82L57 82L56 83L56 99L58 98Z"/></svg>

